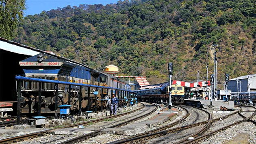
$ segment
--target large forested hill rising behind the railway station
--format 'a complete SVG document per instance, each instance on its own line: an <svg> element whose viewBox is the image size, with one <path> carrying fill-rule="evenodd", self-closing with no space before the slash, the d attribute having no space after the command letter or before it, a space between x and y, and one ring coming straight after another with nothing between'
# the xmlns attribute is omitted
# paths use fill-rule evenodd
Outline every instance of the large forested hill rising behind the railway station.
<svg viewBox="0 0 256 144"><path fill-rule="evenodd" d="M126 0L117 4L66 6L20 23L15 42L73 59L97 70L114 64L119 75L147 76L150 84L218 81L256 73L255 0ZM208 78L209 79L209 78ZM221 86L221 85L220 85ZM222 86L221 86L222 87Z"/></svg>

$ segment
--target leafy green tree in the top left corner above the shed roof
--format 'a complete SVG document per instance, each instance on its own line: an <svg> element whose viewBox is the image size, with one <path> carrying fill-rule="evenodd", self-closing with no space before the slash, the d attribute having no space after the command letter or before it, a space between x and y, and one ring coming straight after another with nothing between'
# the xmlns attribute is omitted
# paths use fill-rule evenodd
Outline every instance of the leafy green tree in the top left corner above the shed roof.
<svg viewBox="0 0 256 144"><path fill-rule="evenodd" d="M11 39L19 21L23 19L25 0L0 0L0 37Z"/></svg>

